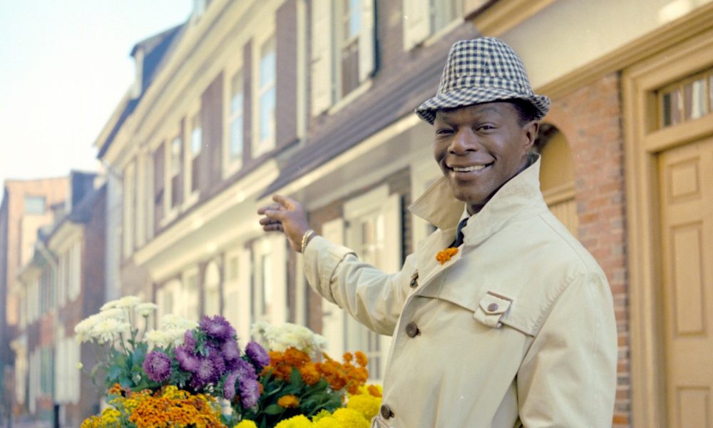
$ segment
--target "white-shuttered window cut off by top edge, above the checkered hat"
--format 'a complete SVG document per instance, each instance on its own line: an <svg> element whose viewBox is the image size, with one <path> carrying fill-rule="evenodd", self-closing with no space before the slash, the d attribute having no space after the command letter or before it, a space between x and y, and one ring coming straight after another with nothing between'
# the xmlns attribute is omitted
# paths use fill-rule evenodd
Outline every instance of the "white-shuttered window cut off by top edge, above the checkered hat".
<svg viewBox="0 0 713 428"><path fill-rule="evenodd" d="M458 22L462 11L463 0L404 0L404 49Z"/></svg>

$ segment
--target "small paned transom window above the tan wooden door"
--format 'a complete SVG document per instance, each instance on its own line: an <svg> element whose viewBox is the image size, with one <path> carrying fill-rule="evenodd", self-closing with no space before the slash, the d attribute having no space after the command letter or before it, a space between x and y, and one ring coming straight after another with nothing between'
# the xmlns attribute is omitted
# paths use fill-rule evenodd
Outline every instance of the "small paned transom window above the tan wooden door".
<svg viewBox="0 0 713 428"><path fill-rule="evenodd" d="M702 118L713 112L713 68L657 91L660 128Z"/></svg>

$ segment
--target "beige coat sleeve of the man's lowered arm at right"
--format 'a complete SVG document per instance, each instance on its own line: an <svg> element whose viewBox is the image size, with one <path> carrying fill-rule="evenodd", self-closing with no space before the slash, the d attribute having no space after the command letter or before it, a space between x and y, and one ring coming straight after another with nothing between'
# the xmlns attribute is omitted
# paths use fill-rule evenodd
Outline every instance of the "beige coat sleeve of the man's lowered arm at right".
<svg viewBox="0 0 713 428"><path fill-rule="evenodd" d="M525 428L611 427L617 331L603 274L575 279L555 301L518 371Z"/></svg>

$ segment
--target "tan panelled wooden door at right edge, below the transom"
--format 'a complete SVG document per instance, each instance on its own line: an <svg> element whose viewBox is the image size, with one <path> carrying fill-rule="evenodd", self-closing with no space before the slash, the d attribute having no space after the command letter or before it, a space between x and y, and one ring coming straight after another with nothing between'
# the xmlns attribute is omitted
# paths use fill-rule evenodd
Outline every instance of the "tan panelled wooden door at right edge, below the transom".
<svg viewBox="0 0 713 428"><path fill-rule="evenodd" d="M713 138L658 169L668 426L713 427Z"/></svg>

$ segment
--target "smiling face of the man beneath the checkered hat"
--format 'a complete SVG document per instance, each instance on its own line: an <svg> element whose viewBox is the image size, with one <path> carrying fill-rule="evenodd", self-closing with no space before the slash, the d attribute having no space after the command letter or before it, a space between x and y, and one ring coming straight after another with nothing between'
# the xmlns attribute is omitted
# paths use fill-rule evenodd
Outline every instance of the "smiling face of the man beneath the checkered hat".
<svg viewBox="0 0 713 428"><path fill-rule="evenodd" d="M495 102L439 110L434 128L436 162L473 214L525 168L538 123L521 126L513 104Z"/></svg>

